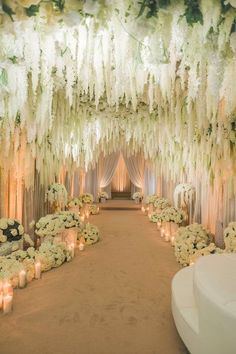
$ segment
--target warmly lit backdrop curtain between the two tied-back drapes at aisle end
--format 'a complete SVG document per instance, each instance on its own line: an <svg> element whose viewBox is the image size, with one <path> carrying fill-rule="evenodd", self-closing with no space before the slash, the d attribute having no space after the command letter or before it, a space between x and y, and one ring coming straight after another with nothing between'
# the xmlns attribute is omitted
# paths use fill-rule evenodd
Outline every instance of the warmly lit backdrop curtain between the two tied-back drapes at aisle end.
<svg viewBox="0 0 236 354"><path fill-rule="evenodd" d="M120 154L120 158L116 167L116 171L111 182L112 192L130 192L130 178L125 165L123 156Z"/></svg>

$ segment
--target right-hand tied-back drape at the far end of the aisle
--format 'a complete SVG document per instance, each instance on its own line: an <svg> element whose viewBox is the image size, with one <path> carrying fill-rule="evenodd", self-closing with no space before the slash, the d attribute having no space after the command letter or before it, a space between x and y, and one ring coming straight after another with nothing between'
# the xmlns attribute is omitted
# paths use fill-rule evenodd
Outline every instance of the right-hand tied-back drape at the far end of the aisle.
<svg viewBox="0 0 236 354"><path fill-rule="evenodd" d="M141 190L144 189L144 158L141 155L124 156L131 182Z"/></svg>

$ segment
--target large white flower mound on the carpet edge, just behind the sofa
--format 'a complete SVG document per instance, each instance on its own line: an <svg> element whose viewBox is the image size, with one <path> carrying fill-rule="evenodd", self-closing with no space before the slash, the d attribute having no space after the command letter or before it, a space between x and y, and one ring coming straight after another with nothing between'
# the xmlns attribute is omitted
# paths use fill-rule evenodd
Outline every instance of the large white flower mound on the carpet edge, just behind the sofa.
<svg viewBox="0 0 236 354"><path fill-rule="evenodd" d="M175 238L175 256L177 261L186 266L190 257L198 250L204 249L212 242L212 234L201 224L180 227Z"/></svg>

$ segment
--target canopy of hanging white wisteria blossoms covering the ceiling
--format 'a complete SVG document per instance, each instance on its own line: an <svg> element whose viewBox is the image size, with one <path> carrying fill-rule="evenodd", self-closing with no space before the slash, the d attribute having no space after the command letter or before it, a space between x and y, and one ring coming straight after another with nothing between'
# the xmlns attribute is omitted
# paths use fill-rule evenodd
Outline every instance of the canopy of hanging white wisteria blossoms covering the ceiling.
<svg viewBox="0 0 236 354"><path fill-rule="evenodd" d="M0 16L5 171L23 151L46 183L124 144L172 176L234 178L235 0L4 0Z"/></svg>

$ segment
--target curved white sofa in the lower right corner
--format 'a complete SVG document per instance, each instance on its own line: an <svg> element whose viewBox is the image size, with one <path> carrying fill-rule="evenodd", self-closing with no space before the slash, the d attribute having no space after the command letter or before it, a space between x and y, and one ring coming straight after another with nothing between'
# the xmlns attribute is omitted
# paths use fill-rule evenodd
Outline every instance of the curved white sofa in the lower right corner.
<svg viewBox="0 0 236 354"><path fill-rule="evenodd" d="M180 270L172 313L191 354L236 354L236 254L202 257Z"/></svg>

